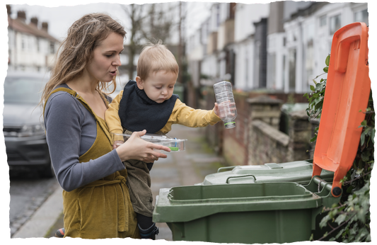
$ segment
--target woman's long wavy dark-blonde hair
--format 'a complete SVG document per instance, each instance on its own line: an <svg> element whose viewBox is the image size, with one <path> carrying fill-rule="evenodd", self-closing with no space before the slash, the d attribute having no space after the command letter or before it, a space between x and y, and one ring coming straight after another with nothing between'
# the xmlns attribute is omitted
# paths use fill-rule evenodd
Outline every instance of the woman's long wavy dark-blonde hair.
<svg viewBox="0 0 377 245"><path fill-rule="evenodd" d="M51 78L42 90L39 103L41 106L47 103L50 93L60 84L80 76L86 65L93 58L93 50L105 40L110 33L117 33L124 38L126 31L110 16L105 13L90 13L75 21L68 29L66 39L62 42L55 54L55 62L51 71ZM59 51L62 51L59 53ZM116 76L112 83L98 81L97 90L107 90L113 85L113 93L116 89ZM106 93L106 94L109 94Z"/></svg>

